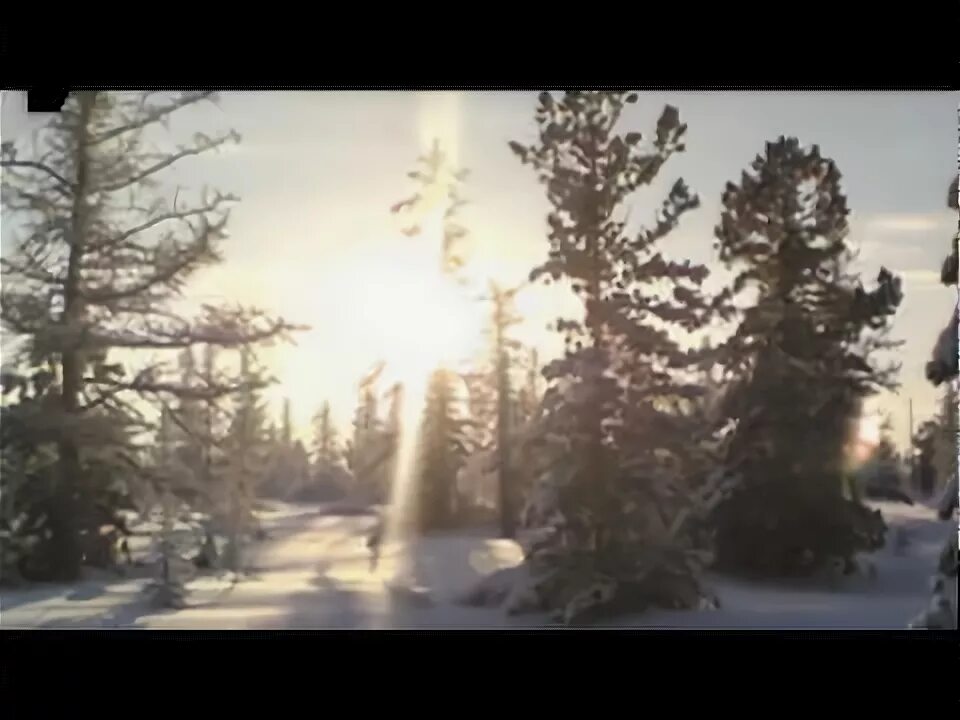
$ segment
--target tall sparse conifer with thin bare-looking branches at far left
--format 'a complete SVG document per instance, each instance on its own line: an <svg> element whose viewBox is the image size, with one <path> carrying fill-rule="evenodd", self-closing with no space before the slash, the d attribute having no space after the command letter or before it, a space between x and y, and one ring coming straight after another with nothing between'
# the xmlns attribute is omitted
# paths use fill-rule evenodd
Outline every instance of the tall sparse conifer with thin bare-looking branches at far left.
<svg viewBox="0 0 960 720"><path fill-rule="evenodd" d="M91 444L91 411L111 413L127 429L143 421L132 395L176 395L162 365L136 373L111 361L122 350L179 350L197 343L266 341L289 326L262 312L205 306L192 318L173 302L199 268L221 259L227 208L234 200L204 192L188 204L157 180L178 161L237 140L235 133L197 133L172 149L148 137L181 108L211 93L77 92L40 133L30 156L4 143L5 217L16 216L15 251L3 258L0 315L4 329L26 338L30 352L56 368L57 486L48 514L54 577L80 573L80 526L95 494L84 471ZM223 394L232 388L205 389ZM100 420L101 418L98 418ZM129 456L129 453L128 453Z"/></svg>

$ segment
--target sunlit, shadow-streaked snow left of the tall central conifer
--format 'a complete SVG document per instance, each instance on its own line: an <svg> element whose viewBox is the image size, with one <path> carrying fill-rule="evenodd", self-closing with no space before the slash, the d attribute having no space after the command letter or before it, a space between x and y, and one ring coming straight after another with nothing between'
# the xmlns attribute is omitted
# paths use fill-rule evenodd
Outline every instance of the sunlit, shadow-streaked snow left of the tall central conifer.
<svg viewBox="0 0 960 720"><path fill-rule="evenodd" d="M519 549L482 536L430 538L384 548L376 572L365 545L370 516L313 509L264 516L270 539L252 548L251 573L236 584L200 577L189 607L157 611L141 597L148 580L91 579L3 591L0 627L150 629L349 629L497 627L498 610L463 608L453 596L483 574L517 563ZM394 572L411 557L420 593L395 589Z"/></svg>

